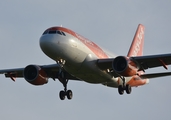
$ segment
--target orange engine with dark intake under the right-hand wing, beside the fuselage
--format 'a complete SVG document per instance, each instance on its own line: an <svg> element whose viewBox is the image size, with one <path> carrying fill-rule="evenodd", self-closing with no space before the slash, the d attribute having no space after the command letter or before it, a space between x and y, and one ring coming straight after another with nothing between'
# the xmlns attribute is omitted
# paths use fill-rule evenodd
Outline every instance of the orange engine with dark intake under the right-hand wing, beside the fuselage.
<svg viewBox="0 0 171 120"><path fill-rule="evenodd" d="M136 75L139 69L138 65L134 61L124 56L116 57L113 60L112 68L115 73L125 77Z"/></svg>

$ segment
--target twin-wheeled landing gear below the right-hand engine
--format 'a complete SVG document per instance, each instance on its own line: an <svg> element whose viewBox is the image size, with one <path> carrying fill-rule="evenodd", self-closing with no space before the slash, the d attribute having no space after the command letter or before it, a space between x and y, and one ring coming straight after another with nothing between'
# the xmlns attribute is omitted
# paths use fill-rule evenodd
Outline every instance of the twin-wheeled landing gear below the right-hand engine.
<svg viewBox="0 0 171 120"><path fill-rule="evenodd" d="M124 94L124 90L126 91L127 94L131 94L132 88L129 84L125 85L125 78L121 77L122 81L123 81L123 85L119 85L118 86L118 93L120 95Z"/></svg>

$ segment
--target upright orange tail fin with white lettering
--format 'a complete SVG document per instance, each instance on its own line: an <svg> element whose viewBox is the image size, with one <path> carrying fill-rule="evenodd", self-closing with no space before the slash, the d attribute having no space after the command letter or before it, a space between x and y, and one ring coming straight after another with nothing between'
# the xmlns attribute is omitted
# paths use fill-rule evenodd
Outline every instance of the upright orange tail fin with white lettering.
<svg viewBox="0 0 171 120"><path fill-rule="evenodd" d="M144 46L144 29L145 27L141 24L138 25L134 39L128 52L128 57L131 56L142 56Z"/></svg>

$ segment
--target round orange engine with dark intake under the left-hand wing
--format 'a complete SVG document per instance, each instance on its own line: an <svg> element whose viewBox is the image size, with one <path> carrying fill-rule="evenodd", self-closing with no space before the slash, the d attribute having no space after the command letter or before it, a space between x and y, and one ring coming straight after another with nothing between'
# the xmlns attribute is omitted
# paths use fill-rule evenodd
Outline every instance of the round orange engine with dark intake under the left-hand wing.
<svg viewBox="0 0 171 120"><path fill-rule="evenodd" d="M43 85L48 82L47 74L41 67L28 65L23 72L24 78L32 85Z"/></svg>

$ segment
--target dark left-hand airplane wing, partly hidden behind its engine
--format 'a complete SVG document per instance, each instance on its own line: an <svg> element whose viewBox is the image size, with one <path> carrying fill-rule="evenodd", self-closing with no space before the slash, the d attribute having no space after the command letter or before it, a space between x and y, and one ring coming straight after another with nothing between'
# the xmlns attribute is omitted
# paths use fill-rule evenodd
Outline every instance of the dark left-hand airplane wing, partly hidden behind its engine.
<svg viewBox="0 0 171 120"><path fill-rule="evenodd" d="M39 67L45 71L48 78L53 78L53 79L58 78L59 70L60 70L60 66L58 64L41 65ZM0 70L0 74L5 74L5 77L10 77L12 80L15 81L15 78L24 77L23 71L24 71L24 68L4 69L4 70ZM75 78L68 72L66 71L63 71L63 72L65 72L66 79L78 80L78 78Z"/></svg>

